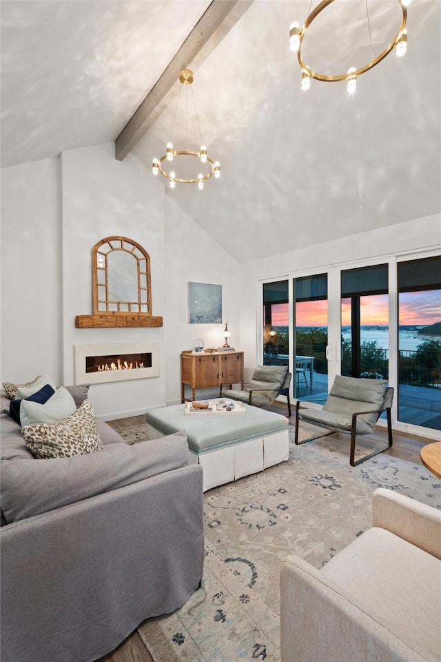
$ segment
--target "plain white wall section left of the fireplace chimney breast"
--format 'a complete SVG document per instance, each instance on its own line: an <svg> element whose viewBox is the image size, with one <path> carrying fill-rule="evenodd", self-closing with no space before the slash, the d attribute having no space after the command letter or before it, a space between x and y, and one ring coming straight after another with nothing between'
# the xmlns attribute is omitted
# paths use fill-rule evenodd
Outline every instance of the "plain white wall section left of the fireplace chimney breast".
<svg viewBox="0 0 441 662"><path fill-rule="evenodd" d="M59 159L1 170L1 381L61 380Z"/></svg>

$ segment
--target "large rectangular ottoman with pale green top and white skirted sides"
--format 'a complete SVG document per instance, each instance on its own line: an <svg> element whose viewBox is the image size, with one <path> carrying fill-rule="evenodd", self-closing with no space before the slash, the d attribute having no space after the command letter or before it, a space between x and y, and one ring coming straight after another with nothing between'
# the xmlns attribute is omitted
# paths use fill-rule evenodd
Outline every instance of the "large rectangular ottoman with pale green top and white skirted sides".
<svg viewBox="0 0 441 662"><path fill-rule="evenodd" d="M181 404L150 409L145 419L162 434L185 430L189 461L204 470L205 492L288 459L288 419L251 405L244 408L245 414L185 415Z"/></svg>

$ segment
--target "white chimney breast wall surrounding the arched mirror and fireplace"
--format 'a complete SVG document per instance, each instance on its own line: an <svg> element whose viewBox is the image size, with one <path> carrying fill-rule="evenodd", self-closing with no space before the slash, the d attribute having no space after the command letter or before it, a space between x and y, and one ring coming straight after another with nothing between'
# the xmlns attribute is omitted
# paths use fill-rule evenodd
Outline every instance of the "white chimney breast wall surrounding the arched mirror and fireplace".
<svg viewBox="0 0 441 662"><path fill-rule="evenodd" d="M153 314L166 317L163 186L131 154L117 161L110 143L63 152L61 190L63 383L73 383L74 345L158 342L159 377L97 384L90 388L90 400L96 413L106 418L116 412L124 416L163 405L163 328L75 328L76 315L93 312L92 247L112 235L134 239L150 254Z"/></svg>

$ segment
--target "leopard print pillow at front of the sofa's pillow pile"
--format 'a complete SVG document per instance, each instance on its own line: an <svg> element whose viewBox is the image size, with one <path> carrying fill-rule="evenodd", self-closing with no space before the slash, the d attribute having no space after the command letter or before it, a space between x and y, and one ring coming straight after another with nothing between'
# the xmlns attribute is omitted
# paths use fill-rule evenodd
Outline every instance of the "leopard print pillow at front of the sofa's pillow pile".
<svg viewBox="0 0 441 662"><path fill-rule="evenodd" d="M38 459L72 457L103 450L94 410L88 400L63 421L25 425L21 434L32 455Z"/></svg>

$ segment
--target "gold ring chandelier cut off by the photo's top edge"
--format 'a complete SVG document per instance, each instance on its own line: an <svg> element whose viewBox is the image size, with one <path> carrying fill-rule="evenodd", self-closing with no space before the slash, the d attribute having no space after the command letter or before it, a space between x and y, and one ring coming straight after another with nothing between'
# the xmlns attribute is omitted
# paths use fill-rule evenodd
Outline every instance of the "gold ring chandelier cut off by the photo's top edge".
<svg viewBox="0 0 441 662"><path fill-rule="evenodd" d="M320 74L317 71L314 71L311 67L305 63L305 61L302 58L302 42L303 39L305 39L305 34L307 33L307 30L309 26L311 26L311 23L318 17L318 14L322 12L324 9L327 8L334 0L322 0L316 8L309 13L309 16L307 17L304 25L302 28L299 28L298 22L294 21L294 23L291 23L291 26L289 27L289 48L293 50L294 52L297 52L297 59L298 63L300 65L300 71L302 72L302 90L309 90L309 85L311 83L311 78L316 79L316 81L327 81L327 82L335 82L335 81L347 81L347 91L349 94L353 94L356 90L356 84L357 84L357 77L360 76L361 74L364 74L366 71L369 71L369 69L373 68L378 64L379 62L382 61L393 48L396 49L396 54L398 57L402 57L404 53L407 50L407 30L406 30L406 22L407 22L407 6L411 2L411 0L397 0L398 4L400 5L401 12L402 12L402 19L401 19L401 25L396 33L395 37L393 37L392 41L389 43L389 46L385 48L377 57L373 56L373 50L372 50L372 39L371 39L371 23L369 20L369 11L367 8L367 0L365 0L366 4L366 14L367 14L367 26L369 28L369 39L371 42L371 54L372 54L372 59L369 61L365 66L359 67L358 69L356 67L351 67L345 74L336 74L336 75L325 75L325 74ZM350 4L350 3L349 3ZM309 6L311 8L311 6Z"/></svg>

